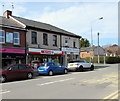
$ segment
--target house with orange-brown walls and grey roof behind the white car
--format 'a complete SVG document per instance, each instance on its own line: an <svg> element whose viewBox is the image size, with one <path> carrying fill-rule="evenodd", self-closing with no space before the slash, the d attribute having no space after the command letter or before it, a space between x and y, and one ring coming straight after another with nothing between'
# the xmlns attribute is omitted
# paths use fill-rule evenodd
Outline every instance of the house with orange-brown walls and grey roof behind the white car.
<svg viewBox="0 0 120 101"><path fill-rule="evenodd" d="M102 47L93 46L81 48L80 58L95 57L95 56L105 56L105 50Z"/></svg>

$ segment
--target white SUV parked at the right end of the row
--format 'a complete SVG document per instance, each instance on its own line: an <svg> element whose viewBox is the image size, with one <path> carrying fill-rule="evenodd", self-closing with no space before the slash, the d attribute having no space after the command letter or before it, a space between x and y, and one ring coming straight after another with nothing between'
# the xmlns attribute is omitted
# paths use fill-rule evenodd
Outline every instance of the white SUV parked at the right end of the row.
<svg viewBox="0 0 120 101"><path fill-rule="evenodd" d="M93 63L89 63L86 60L70 61L67 66L68 70L83 71L84 69L94 70Z"/></svg>

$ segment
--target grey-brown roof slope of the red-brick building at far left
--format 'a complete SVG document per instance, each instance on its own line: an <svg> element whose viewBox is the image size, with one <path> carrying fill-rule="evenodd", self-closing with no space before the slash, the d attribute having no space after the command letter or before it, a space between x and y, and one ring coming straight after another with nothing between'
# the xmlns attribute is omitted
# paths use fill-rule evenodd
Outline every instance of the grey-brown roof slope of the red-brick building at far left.
<svg viewBox="0 0 120 101"><path fill-rule="evenodd" d="M8 18L3 17L3 16L0 16L0 25L2 25L2 27L10 26L10 27L16 27L16 28L24 29L20 24L15 23L13 20L8 19Z"/></svg>

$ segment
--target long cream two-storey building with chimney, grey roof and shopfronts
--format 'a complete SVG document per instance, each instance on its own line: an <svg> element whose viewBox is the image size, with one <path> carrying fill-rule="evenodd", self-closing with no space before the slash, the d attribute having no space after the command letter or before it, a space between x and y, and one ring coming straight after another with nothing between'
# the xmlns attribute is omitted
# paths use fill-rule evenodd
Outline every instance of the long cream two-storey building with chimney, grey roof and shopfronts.
<svg viewBox="0 0 120 101"><path fill-rule="evenodd" d="M4 16L27 30L26 63L57 61L66 65L70 59L79 58L79 35L50 24L13 16L8 10Z"/></svg>

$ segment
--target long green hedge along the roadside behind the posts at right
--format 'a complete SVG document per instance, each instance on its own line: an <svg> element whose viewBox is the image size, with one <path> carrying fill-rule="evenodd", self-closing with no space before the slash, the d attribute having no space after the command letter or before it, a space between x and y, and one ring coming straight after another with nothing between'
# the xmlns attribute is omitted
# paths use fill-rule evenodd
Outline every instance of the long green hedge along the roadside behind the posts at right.
<svg viewBox="0 0 120 101"><path fill-rule="evenodd" d="M84 60L87 60L90 62L90 58L81 58ZM91 59L92 63L98 63L98 57L94 57L93 59ZM113 64L113 63L120 63L120 57L105 57L105 62L108 64ZM104 57L100 56L100 63L104 63Z"/></svg>

